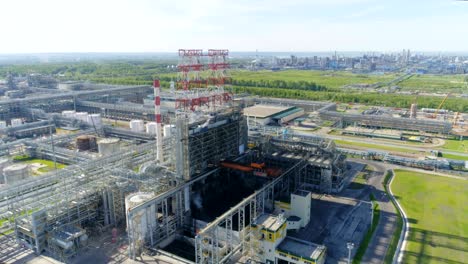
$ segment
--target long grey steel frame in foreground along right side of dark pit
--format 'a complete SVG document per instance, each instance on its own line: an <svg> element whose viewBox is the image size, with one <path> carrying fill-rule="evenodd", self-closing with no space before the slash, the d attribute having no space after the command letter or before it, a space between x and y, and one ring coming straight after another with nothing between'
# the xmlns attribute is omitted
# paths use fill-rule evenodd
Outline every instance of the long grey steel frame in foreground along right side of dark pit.
<svg viewBox="0 0 468 264"><path fill-rule="evenodd" d="M275 199L300 187L300 175L306 165L305 160L298 161L203 228L195 237L196 263L227 263L239 251L255 257L259 248L250 225L264 212L273 210ZM234 228L235 219L237 230Z"/></svg>

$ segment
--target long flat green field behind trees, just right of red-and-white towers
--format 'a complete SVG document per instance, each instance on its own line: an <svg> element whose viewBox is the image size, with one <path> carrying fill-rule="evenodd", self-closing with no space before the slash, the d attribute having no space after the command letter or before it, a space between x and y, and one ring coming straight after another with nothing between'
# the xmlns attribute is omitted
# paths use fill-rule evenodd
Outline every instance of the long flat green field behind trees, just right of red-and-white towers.
<svg viewBox="0 0 468 264"><path fill-rule="evenodd" d="M238 80L284 80L311 81L329 88L342 88L348 84L372 84L390 81L395 74L371 75L354 74L345 71L315 71L315 70L286 70L286 71L232 71L232 77Z"/></svg>

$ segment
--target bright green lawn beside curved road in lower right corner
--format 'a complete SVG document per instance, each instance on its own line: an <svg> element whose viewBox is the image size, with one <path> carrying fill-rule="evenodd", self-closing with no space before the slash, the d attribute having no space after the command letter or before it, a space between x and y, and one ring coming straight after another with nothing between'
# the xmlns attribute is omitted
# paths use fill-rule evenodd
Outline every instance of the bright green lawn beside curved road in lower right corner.
<svg viewBox="0 0 468 264"><path fill-rule="evenodd" d="M466 263L468 182L395 170L392 190L410 222L403 263Z"/></svg>

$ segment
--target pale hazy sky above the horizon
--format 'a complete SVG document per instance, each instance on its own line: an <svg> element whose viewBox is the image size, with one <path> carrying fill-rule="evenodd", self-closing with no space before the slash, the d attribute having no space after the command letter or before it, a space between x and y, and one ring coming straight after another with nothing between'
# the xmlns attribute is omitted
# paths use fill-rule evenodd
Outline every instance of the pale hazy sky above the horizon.
<svg viewBox="0 0 468 264"><path fill-rule="evenodd" d="M1 0L0 53L468 50L452 0Z"/></svg>

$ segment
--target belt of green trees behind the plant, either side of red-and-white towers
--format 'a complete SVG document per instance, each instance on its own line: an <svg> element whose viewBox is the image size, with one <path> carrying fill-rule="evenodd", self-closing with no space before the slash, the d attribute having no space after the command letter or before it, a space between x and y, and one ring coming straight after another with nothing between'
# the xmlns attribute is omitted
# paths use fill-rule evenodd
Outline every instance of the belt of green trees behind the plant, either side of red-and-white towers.
<svg viewBox="0 0 468 264"><path fill-rule="evenodd" d="M89 80L97 83L121 85L151 85L154 78L159 78L162 87L166 88L169 87L171 80L176 79L176 69L168 67L170 63L175 62L111 61L0 65L0 77L5 77L10 72L21 75L34 72L51 74L63 80ZM414 101L413 95L350 92L303 80L234 78L231 83L233 91L237 93L278 98L361 103L400 108L409 108ZM430 96L419 96L417 100L420 108L437 108L442 101L439 97ZM465 98L448 98L443 108L468 112L468 103Z"/></svg>

